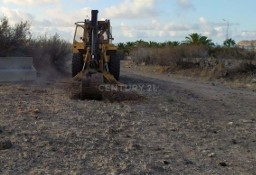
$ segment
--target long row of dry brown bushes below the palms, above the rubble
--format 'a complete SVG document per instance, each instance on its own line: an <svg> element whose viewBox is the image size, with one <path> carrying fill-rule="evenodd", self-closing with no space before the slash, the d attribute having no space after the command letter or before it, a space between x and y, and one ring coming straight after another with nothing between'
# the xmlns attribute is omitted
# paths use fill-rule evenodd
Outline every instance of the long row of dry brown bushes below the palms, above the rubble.
<svg viewBox="0 0 256 175"><path fill-rule="evenodd" d="M161 66L187 65L194 58L256 60L256 52L241 48L208 47L203 45L178 45L165 47L136 47L131 51L137 64ZM187 66L185 66L187 67Z"/></svg>

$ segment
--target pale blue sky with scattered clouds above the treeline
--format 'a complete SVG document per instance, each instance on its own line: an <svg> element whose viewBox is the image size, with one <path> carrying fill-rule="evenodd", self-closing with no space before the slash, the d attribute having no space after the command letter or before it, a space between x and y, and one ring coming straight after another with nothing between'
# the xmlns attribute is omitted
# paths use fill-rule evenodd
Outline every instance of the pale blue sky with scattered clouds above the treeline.
<svg viewBox="0 0 256 175"><path fill-rule="evenodd" d="M71 41L74 22L98 9L111 20L115 43L183 41L196 32L222 44L228 23L236 42L256 40L255 7L255 0L0 0L0 16L29 21L34 35L57 32Z"/></svg>

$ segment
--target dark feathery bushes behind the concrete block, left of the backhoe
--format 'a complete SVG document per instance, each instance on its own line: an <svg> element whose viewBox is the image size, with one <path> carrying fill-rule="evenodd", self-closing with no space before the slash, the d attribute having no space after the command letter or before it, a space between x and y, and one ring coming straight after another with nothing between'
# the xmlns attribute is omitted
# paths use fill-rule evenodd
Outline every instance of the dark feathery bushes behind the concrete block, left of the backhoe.
<svg viewBox="0 0 256 175"><path fill-rule="evenodd" d="M6 17L0 22L0 41L0 56L32 56L36 69L42 71L47 66L65 71L66 57L72 48L58 34L33 38L28 22L10 26Z"/></svg>

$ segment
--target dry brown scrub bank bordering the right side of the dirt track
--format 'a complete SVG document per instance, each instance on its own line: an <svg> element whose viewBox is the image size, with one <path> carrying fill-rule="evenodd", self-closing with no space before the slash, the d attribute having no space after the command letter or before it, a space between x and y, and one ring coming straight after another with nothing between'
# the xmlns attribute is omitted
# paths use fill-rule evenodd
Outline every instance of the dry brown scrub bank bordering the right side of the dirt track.
<svg viewBox="0 0 256 175"><path fill-rule="evenodd" d="M236 47L135 47L131 57L136 64L161 66L163 70L159 72L231 81L256 78L256 52Z"/></svg>

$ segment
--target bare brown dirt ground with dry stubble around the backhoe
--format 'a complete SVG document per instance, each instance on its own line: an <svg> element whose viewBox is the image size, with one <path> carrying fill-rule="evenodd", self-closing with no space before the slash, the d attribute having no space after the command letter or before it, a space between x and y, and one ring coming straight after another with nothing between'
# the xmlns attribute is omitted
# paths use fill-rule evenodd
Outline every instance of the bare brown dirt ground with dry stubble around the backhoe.
<svg viewBox="0 0 256 175"><path fill-rule="evenodd" d="M69 77L0 85L0 174L256 174L256 93L122 68L80 100Z"/></svg>

